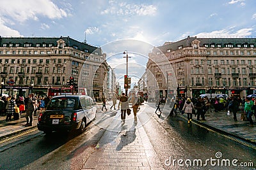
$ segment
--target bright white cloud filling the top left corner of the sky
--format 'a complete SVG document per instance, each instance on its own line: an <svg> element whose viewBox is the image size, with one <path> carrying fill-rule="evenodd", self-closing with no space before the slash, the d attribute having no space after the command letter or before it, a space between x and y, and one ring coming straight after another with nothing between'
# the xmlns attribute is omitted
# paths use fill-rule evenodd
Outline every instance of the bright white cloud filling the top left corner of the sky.
<svg viewBox="0 0 256 170"><path fill-rule="evenodd" d="M50 0L1 0L0 16L10 17L15 21L24 22L29 19L38 20L39 15L54 19L67 17L65 10L58 8Z"/></svg>

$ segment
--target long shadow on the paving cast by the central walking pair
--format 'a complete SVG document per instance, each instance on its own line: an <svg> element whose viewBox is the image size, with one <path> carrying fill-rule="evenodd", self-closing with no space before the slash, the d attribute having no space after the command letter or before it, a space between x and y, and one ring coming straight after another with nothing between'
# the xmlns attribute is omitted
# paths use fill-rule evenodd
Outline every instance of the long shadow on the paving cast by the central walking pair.
<svg viewBox="0 0 256 170"><path fill-rule="evenodd" d="M129 131L126 131L125 134L121 135L120 143L118 146L116 146L116 151L120 151L122 148L124 148L124 146L134 142L136 139L136 125L137 124L132 124L132 127L129 129Z"/></svg>

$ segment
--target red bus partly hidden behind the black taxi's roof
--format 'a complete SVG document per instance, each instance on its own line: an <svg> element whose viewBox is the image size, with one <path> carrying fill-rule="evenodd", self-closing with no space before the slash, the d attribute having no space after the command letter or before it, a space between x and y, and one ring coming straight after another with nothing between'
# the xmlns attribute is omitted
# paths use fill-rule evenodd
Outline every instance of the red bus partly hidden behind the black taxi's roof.
<svg viewBox="0 0 256 170"><path fill-rule="evenodd" d="M48 89L48 96L60 96L60 95L71 95L72 90L69 87L50 87ZM87 90L85 88L79 88L80 95L87 95ZM74 92L73 94L77 94Z"/></svg>

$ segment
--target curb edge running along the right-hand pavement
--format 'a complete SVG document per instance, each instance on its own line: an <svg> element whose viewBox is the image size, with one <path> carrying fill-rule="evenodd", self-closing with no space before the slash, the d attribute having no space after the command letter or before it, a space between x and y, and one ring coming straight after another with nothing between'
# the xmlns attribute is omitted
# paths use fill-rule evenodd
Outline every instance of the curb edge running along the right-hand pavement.
<svg viewBox="0 0 256 170"><path fill-rule="evenodd" d="M187 118L183 115L178 115L178 116L180 118L184 118L185 120L187 120ZM223 131L221 129L218 129L216 127L212 127L211 125L204 124L204 122L200 122L198 120L193 120L192 122L195 122L196 124L202 125L203 127L206 127L207 129L211 129L212 131L216 131L216 132L219 132L220 134L224 134L225 136L230 136L232 138L237 138L237 139L240 139L241 141L245 141L246 143L256 145L255 141L250 141L249 139L242 138L241 136L237 136L236 134L232 134L232 133Z"/></svg>

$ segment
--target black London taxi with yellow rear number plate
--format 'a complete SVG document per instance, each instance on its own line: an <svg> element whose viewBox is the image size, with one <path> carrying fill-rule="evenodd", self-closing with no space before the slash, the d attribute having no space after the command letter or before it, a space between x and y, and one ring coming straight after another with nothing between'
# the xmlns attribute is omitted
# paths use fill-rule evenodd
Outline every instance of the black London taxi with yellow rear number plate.
<svg viewBox="0 0 256 170"><path fill-rule="evenodd" d="M96 110L89 96L55 96L40 113L37 128L45 134L52 131L84 132L86 124L96 117Z"/></svg>

